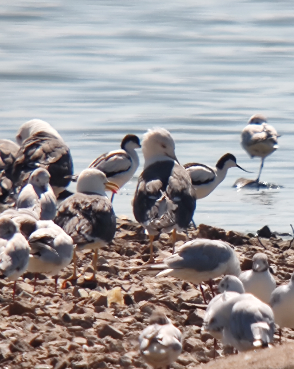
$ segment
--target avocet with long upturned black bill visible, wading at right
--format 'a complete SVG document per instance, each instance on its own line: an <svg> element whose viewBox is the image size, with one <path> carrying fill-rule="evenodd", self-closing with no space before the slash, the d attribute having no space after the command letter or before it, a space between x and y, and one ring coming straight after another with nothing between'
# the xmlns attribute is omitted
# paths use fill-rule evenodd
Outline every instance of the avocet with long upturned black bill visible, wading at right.
<svg viewBox="0 0 294 369"><path fill-rule="evenodd" d="M239 168L248 172L237 164L236 158L232 154L223 155L215 168L199 163L187 163L184 164L184 168L191 177L197 200L208 196L225 179L229 168Z"/></svg>

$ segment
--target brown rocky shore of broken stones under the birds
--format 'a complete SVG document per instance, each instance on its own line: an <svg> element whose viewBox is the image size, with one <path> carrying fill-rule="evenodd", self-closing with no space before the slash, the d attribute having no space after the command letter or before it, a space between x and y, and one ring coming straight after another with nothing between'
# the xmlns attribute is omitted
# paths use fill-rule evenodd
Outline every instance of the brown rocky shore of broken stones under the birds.
<svg viewBox="0 0 294 369"><path fill-rule="evenodd" d="M230 242L242 270L251 268L256 252L265 252L278 285L294 270L290 241L276 235L265 232L257 238L200 224L197 230L188 231L188 237L180 234L176 246L197 237ZM93 272L89 250L77 252L82 276L61 289L63 279L72 273L69 265L60 274L57 293L54 280L45 275L39 276L34 291L34 275L26 273L17 283L13 302L13 282L0 280L0 368L147 368L139 355L138 336L156 306L183 332L183 352L172 368L200 364L205 368L209 361L213 365L213 339L201 333L206 306L200 291L172 277L142 275L136 267L149 258L148 243L139 224L119 217L113 242L99 251L97 282L87 280ZM171 245L169 235L161 234L154 242L155 257L159 260L169 255ZM210 300L205 285L204 290ZM274 345L280 346L275 337ZM293 339L294 331L283 329L282 346ZM230 354L219 344L216 356Z"/></svg>

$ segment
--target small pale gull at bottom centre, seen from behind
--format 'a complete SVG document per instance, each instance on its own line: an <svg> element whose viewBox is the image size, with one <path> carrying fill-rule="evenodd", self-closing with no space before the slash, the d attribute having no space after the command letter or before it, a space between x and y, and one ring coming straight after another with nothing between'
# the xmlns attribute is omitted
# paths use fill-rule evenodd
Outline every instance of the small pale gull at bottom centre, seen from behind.
<svg viewBox="0 0 294 369"><path fill-rule="evenodd" d="M139 336L140 353L154 369L170 368L182 351L182 335L170 319L162 313L153 313Z"/></svg>

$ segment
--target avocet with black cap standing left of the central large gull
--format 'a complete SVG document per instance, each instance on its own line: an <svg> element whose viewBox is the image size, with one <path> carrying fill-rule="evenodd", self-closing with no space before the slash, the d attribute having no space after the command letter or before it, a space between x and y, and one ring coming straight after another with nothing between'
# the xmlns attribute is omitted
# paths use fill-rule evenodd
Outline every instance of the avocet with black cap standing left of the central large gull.
<svg viewBox="0 0 294 369"><path fill-rule="evenodd" d="M110 182L119 188L127 183L139 166L139 157L135 149L140 148L140 140L135 135L126 135L121 141L121 149L107 152L94 160L89 168L101 170ZM113 202L114 192L111 196Z"/></svg>

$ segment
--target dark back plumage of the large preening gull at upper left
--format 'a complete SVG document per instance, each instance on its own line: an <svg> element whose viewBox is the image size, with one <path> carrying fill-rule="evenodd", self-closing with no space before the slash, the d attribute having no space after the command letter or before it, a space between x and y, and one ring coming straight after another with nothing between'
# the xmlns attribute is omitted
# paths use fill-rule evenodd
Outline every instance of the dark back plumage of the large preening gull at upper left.
<svg viewBox="0 0 294 369"><path fill-rule="evenodd" d="M27 184L31 172L39 167L46 168L51 175L51 186L66 187L73 174L72 156L68 146L53 135L40 132L27 138L15 159L12 181L15 187Z"/></svg>

